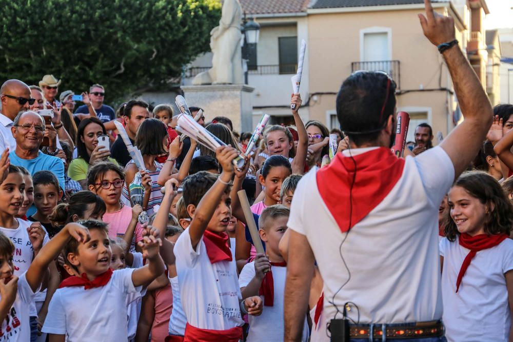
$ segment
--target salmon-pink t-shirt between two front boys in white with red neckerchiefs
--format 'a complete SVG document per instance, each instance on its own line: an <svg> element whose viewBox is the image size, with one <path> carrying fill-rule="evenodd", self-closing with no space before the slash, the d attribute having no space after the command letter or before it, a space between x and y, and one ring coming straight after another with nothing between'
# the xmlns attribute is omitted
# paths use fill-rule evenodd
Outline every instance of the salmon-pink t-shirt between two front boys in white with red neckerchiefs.
<svg viewBox="0 0 513 342"><path fill-rule="evenodd" d="M155 317L151 326L151 342L163 341L169 334L169 317L173 310L171 284L155 290Z"/></svg>

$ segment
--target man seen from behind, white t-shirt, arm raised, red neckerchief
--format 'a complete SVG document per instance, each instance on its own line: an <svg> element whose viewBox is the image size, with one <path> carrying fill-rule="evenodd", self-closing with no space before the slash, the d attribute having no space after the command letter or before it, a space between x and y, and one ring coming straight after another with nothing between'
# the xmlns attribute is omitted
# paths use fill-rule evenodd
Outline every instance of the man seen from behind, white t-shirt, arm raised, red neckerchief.
<svg viewBox="0 0 513 342"><path fill-rule="evenodd" d="M327 323L349 307L347 316L363 325L351 330L351 340L393 338L396 331L445 340L437 213L479 151L493 112L455 41L453 19L433 12L429 0L425 5L422 29L447 63L465 120L440 146L399 159L389 150L396 128L393 81L381 72L344 81L337 114L350 149L303 176L292 200L285 341L301 340L314 261L324 279Z"/></svg>

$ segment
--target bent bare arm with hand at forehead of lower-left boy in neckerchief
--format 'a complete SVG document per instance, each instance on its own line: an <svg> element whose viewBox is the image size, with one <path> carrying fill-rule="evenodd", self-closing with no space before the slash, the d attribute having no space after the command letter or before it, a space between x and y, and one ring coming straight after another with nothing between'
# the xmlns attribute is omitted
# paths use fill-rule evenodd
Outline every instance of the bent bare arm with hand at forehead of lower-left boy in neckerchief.
<svg viewBox="0 0 513 342"><path fill-rule="evenodd" d="M43 246L32 261L32 264L30 264L25 277L32 291L35 292L40 287L48 265L57 257L64 246L66 246L70 238L75 238L78 242L86 243L91 236L89 236L87 228L77 223L68 223L64 226L60 232Z"/></svg>

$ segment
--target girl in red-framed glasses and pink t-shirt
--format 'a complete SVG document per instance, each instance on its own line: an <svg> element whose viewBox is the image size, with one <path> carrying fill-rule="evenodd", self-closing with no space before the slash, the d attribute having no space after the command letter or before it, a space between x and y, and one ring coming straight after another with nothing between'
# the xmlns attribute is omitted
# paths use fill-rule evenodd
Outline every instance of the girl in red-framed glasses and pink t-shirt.
<svg viewBox="0 0 513 342"><path fill-rule="evenodd" d="M90 191L100 196L105 202L106 211L103 222L109 224L109 237L123 238L127 230L135 229L135 236L131 242L131 249L135 248L135 237L142 239L142 228L137 224L137 217L142 211L140 206L133 209L121 203L121 192L125 183L123 169L110 162L100 162L92 166L87 173L87 186Z"/></svg>

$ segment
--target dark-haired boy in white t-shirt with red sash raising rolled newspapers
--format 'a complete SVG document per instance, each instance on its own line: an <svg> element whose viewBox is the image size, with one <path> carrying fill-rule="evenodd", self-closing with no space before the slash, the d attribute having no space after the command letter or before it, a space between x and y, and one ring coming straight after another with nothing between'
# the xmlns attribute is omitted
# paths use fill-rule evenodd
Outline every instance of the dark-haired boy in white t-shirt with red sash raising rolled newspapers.
<svg viewBox="0 0 513 342"><path fill-rule="evenodd" d="M187 317L185 341L238 342L242 338L241 316L259 315L262 299L242 301L235 261L227 245L226 229L231 218L229 182L234 173L232 147L216 149L221 175L198 172L183 184L183 199L190 226L174 246L181 300Z"/></svg>

